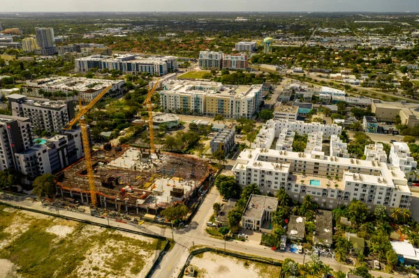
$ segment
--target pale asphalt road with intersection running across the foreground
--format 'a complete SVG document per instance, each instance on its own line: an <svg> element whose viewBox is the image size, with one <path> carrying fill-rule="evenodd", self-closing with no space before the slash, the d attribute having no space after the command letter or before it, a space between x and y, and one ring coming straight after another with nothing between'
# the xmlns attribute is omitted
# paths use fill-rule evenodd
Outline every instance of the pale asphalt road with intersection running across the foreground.
<svg viewBox="0 0 419 278"><path fill-rule="evenodd" d="M8 197L7 194L3 194L0 192L0 199L3 202L13 204L15 206L21 206L26 208L34 208L36 210L47 211L50 213L57 213L55 208L51 207L43 207L41 202L33 201L30 196L27 199L15 199ZM144 233L151 233L157 235L163 235L167 238L175 239L175 246L163 256L161 263L159 263L158 267L154 271L153 277L156 278L172 278L177 277L179 274L180 269L186 262L186 258L189 256L189 248L193 247L194 245L207 245L216 248L224 248L226 247L227 250L233 252L242 252L246 254L256 255L256 256L264 256L267 258L274 258L277 260L284 260L285 258L293 258L297 263L303 263L309 261L308 256L304 256L302 254L294 254L294 253L284 253L284 252L276 252L272 249L265 247L263 245L259 245L259 242L247 240L246 242L241 241L227 241L224 242L223 240L218 240L215 238L211 238L205 233L206 223L210 216L212 215L212 204L214 202L221 202L221 196L217 192L215 187L212 187L212 190L207 194L205 197L202 205L198 209L195 217L191 224L184 229L174 229L172 233L172 229L166 226L159 226L156 224L148 224L147 222L142 224L141 226L134 226L132 224L124 224L119 222L114 222L110 220L111 226L119 226L125 229L130 229L132 231L142 231ZM91 222L100 223L100 224L108 224L108 219L102 219L98 217L92 217L91 215L82 214L82 213L75 213L69 210L59 210L60 215L66 215L78 219L88 219ZM341 271L348 271L353 266L349 265L342 265L338 263L333 258L324 258L321 257L321 261L323 263L330 265L331 268L334 270L341 270ZM370 272L375 277L383 277L383 278L390 278L390 277L404 277L401 275L395 274L388 274L385 272Z"/></svg>

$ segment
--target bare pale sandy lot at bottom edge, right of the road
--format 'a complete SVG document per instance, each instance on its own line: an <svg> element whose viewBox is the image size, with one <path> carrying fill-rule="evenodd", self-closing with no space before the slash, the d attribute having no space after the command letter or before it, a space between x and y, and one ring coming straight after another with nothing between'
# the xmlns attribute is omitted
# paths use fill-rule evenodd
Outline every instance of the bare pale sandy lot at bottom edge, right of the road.
<svg viewBox="0 0 419 278"><path fill-rule="evenodd" d="M244 265L244 262L241 259L205 252L202 258L193 257L191 265L201 270L198 273L198 277L200 278L260 277L259 271L253 263Z"/></svg>

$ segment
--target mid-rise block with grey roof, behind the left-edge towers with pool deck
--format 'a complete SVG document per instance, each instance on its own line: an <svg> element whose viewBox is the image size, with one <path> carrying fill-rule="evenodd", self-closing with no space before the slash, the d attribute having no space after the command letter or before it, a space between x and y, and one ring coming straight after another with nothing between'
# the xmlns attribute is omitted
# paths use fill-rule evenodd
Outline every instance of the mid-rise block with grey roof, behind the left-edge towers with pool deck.
<svg viewBox="0 0 419 278"><path fill-rule="evenodd" d="M8 105L13 116L31 119L33 130L61 132L74 118L73 101L29 99L26 95L8 95Z"/></svg>

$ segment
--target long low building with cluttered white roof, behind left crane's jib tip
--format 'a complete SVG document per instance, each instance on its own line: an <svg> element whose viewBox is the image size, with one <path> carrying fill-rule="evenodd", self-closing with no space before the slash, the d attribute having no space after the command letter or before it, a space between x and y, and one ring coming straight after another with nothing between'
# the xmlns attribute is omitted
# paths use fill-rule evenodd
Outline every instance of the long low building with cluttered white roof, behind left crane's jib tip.
<svg viewBox="0 0 419 278"><path fill-rule="evenodd" d="M79 100L90 102L106 87L112 86L107 93L108 96L122 94L124 80L89 79L86 77L49 77L37 80L28 80L22 86L22 93L30 97L43 98L45 93L54 95L57 91L64 93L64 96L57 95L56 98L63 100ZM42 92L42 93L41 93Z"/></svg>

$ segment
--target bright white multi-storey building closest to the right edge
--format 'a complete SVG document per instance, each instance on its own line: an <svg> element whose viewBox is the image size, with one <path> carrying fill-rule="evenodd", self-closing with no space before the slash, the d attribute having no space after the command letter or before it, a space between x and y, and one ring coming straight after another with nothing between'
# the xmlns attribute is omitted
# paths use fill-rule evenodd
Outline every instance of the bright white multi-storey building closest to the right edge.
<svg viewBox="0 0 419 278"><path fill-rule="evenodd" d="M418 162L411 157L409 146L404 142L393 142L388 155L389 162L400 167L406 176L413 176L412 171L416 170Z"/></svg>

